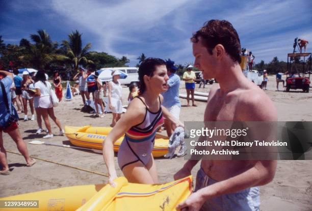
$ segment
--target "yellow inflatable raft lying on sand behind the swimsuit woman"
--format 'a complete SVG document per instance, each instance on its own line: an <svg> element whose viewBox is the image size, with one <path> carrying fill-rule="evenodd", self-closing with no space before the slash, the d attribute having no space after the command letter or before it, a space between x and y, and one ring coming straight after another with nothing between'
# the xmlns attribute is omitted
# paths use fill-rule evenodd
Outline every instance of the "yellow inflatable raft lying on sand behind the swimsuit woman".
<svg viewBox="0 0 312 211"><path fill-rule="evenodd" d="M103 139L110 133L111 127L83 127L65 126L65 136L71 144L79 147L102 149ZM123 137L114 143L114 151L118 152ZM168 137L157 134L152 154L154 157L162 157L168 152Z"/></svg>

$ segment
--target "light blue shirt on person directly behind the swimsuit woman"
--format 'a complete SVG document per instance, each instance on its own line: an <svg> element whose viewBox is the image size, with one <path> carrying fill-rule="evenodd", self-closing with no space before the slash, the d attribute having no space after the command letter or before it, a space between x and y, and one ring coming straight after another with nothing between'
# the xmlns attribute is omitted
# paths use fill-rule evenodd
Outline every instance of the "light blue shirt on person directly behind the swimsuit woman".
<svg viewBox="0 0 312 211"><path fill-rule="evenodd" d="M177 74L172 73L171 75L169 75L169 80L167 81L167 84L169 86L168 90L162 93L162 95L164 96L164 107L170 108L173 107L173 105L181 107L179 99L180 77Z"/></svg>

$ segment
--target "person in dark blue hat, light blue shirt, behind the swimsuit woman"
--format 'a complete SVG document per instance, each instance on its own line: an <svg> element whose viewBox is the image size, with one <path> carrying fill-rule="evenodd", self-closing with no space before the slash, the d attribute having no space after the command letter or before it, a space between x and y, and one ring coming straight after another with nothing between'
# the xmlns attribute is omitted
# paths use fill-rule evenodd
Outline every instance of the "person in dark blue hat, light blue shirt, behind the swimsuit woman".
<svg viewBox="0 0 312 211"><path fill-rule="evenodd" d="M167 74L169 80L167 81L167 91L162 93L164 96L163 105L168 109L170 114L176 119L179 119L181 103L179 99L179 87L180 87L180 77L175 74L177 67L174 66L174 62L170 59L166 61ZM173 133L171 123L165 119L165 127L167 130L168 137Z"/></svg>

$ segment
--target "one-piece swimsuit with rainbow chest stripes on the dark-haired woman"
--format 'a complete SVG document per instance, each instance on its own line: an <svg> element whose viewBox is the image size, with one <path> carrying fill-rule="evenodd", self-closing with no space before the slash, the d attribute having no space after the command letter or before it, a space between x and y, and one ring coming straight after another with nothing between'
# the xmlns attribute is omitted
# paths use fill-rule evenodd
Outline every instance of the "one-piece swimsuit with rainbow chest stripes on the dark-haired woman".
<svg viewBox="0 0 312 211"><path fill-rule="evenodd" d="M143 103L144 101L139 98ZM118 165L122 170L129 164L142 162L145 166L151 159L155 134L164 123L161 102L159 98L159 111L153 113L147 109L142 123L131 127L125 134L118 150Z"/></svg>

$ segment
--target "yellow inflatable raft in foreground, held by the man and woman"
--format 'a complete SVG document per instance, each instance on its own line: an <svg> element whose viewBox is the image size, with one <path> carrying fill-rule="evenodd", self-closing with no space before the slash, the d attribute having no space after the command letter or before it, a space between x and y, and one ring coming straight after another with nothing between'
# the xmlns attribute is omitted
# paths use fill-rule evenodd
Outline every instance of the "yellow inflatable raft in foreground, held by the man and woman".
<svg viewBox="0 0 312 211"><path fill-rule="evenodd" d="M116 187L93 184L39 191L1 198L0 200L38 200L38 207L28 210L176 210L192 193L192 176L165 184L128 183L126 178L115 180ZM21 210L4 208L3 210Z"/></svg>

